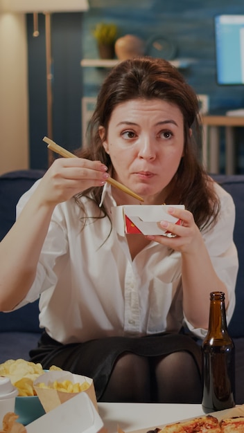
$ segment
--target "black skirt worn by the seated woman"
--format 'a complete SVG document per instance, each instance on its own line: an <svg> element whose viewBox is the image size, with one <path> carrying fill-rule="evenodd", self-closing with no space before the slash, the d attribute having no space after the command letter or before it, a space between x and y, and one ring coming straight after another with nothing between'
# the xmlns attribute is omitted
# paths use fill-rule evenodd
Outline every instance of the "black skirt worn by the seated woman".
<svg viewBox="0 0 244 433"><path fill-rule="evenodd" d="M56 365L73 374L94 380L96 398L105 391L116 359L122 353L138 356L166 356L177 351L187 351L193 356L201 372L200 345L191 335L160 333L145 337L107 337L82 343L61 344L44 332L38 347L30 351L30 361L40 362L44 369Z"/></svg>

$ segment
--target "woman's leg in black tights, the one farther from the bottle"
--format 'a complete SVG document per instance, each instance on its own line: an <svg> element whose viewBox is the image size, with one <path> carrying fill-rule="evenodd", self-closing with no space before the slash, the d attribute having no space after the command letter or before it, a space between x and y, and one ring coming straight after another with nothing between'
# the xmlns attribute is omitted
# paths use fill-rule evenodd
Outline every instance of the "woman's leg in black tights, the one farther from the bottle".
<svg viewBox="0 0 244 433"><path fill-rule="evenodd" d="M103 402L150 402L150 369L148 359L124 353L114 365Z"/></svg>

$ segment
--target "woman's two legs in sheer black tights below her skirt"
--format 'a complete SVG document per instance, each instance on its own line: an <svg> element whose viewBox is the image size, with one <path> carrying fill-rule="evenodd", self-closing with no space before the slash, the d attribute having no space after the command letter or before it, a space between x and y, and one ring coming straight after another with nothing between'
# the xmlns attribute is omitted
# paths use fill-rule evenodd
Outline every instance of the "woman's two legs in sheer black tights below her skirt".
<svg viewBox="0 0 244 433"><path fill-rule="evenodd" d="M100 401L200 403L202 385L190 353L146 358L124 353L112 370Z"/></svg>

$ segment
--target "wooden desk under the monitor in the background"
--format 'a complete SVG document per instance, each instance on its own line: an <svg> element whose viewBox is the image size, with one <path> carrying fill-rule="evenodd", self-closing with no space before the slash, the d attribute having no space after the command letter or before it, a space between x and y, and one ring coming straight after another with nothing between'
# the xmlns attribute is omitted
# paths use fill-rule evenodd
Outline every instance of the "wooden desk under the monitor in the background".
<svg viewBox="0 0 244 433"><path fill-rule="evenodd" d="M202 161L205 167L210 173L219 172L219 127L225 127L225 173L234 174L234 127L244 127L244 117L202 115L202 125Z"/></svg>

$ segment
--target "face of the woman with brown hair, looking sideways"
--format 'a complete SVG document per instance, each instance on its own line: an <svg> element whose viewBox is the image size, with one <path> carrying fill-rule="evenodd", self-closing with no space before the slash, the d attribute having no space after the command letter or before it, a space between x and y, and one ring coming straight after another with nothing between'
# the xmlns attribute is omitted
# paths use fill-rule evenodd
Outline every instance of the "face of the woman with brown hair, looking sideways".
<svg viewBox="0 0 244 433"><path fill-rule="evenodd" d="M112 112L103 146L117 181L142 196L145 203L163 203L183 156L182 112L177 105L159 99L123 102ZM118 194L119 190L114 191L117 202L133 201Z"/></svg>

